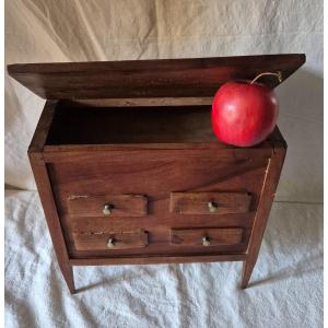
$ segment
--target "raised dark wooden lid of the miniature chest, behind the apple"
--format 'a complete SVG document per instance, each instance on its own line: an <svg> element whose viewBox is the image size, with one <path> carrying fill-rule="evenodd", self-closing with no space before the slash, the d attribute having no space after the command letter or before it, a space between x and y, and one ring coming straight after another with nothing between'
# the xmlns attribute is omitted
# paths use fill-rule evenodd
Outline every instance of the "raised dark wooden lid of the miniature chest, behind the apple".
<svg viewBox="0 0 328 328"><path fill-rule="evenodd" d="M47 99L212 97L230 80L281 72L282 81L305 62L304 54L9 65L16 81ZM266 75L270 87L280 82Z"/></svg>

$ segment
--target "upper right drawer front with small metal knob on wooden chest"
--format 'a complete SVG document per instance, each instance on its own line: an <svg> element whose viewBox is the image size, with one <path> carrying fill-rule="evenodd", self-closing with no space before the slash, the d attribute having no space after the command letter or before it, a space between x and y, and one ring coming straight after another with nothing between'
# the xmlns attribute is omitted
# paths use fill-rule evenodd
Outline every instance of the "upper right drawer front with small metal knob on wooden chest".
<svg viewBox="0 0 328 328"><path fill-rule="evenodd" d="M249 192L171 192L169 211L177 214L231 214L249 211Z"/></svg>

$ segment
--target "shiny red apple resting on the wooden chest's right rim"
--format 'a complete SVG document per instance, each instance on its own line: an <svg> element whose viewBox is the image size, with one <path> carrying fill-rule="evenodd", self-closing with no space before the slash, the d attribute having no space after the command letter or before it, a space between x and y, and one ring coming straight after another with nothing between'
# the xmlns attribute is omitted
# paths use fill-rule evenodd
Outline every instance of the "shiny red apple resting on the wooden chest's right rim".
<svg viewBox="0 0 328 328"><path fill-rule="evenodd" d="M227 82L212 103L213 130L224 143L251 147L272 132L278 112L272 89L258 83Z"/></svg>

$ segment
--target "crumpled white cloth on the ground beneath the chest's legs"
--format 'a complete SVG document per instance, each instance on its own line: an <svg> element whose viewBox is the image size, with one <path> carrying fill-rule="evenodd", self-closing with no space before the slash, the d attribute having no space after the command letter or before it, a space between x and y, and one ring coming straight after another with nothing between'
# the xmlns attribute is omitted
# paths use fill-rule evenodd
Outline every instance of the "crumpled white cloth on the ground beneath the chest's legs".
<svg viewBox="0 0 328 328"><path fill-rule="evenodd" d="M245 291L241 262L75 267L71 296L37 194L5 220L5 327L323 327L321 204L273 204Z"/></svg>

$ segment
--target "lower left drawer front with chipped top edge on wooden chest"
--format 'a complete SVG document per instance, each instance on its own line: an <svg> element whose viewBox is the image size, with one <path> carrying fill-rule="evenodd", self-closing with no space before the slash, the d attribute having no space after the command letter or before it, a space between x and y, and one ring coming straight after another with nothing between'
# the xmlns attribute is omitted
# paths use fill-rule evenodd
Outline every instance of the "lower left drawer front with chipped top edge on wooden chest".
<svg viewBox="0 0 328 328"><path fill-rule="evenodd" d="M140 231L73 233L77 250L133 249L148 245L148 233Z"/></svg>

